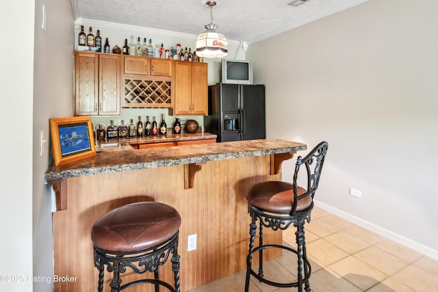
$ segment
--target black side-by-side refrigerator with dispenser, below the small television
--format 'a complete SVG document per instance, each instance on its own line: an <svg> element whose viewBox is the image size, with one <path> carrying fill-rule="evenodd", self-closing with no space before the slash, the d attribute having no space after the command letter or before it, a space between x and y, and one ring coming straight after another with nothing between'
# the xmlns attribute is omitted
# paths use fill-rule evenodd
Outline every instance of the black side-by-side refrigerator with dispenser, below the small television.
<svg viewBox="0 0 438 292"><path fill-rule="evenodd" d="M265 85L216 83L208 95L204 127L217 142L266 138Z"/></svg>

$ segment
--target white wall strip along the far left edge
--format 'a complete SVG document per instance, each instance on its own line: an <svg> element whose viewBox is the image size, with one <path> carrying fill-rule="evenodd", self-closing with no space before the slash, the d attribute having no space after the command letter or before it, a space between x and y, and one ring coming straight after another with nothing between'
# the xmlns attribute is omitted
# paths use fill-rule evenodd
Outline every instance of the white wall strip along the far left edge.
<svg viewBox="0 0 438 292"><path fill-rule="evenodd" d="M0 290L27 292L32 289L27 277L32 275L34 0L2 6L1 118L3 124L14 122L16 127L5 129L0 146ZM24 278L12 278L16 276Z"/></svg>

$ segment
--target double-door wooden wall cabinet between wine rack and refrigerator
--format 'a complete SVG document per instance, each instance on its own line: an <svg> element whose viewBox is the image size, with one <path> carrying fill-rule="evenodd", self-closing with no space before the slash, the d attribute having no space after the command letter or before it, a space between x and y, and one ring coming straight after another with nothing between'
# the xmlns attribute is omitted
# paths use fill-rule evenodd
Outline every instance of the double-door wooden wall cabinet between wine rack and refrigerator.
<svg viewBox="0 0 438 292"><path fill-rule="evenodd" d="M208 114L207 63L175 62L174 116Z"/></svg>

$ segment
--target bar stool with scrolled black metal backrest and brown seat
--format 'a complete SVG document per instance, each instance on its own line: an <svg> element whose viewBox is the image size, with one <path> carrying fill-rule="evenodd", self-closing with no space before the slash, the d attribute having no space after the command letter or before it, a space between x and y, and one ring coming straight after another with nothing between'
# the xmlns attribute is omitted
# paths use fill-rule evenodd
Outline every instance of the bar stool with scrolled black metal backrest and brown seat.
<svg viewBox="0 0 438 292"><path fill-rule="evenodd" d="M251 224L249 252L246 258L245 292L249 289L250 276L275 287L297 287L299 292L302 292L302 286L305 285L305 291L310 292L311 266L307 260L304 224L305 221L310 222L313 196L318 189L328 146L327 142L321 142L305 158L298 157L292 184L283 181L265 181L253 185L247 192L246 200L248 200ZM307 170L307 188L296 185L301 165L305 165ZM259 220L259 246L253 248L257 220ZM296 227L296 250L285 245L263 244L263 226L273 230L286 230L291 224ZM280 283L263 278L263 250L267 248L280 248L297 255L298 280L296 282ZM259 252L258 273L251 267L255 252Z"/></svg>

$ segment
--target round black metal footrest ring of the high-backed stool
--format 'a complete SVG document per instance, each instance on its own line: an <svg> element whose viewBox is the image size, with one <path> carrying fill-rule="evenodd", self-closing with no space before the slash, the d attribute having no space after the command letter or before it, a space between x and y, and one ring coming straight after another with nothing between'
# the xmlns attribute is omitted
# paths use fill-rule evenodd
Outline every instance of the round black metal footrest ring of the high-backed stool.
<svg viewBox="0 0 438 292"><path fill-rule="evenodd" d="M270 281L270 280L264 278L263 274L262 275L257 274L253 270L253 268L250 267L250 256L253 256L259 250L266 250L268 248L280 248L283 250L288 250L289 252L294 252L294 254L298 255L298 252L296 250L294 250L293 248L289 248L288 246L285 246L285 245L270 244L270 245L257 246L257 248L253 249L252 254L248 254L248 256L246 257L246 265L248 266L248 271L257 280L259 280L260 282L263 282L265 284L268 284L268 285L271 285L274 287L281 287L281 288L298 287L299 284L305 284L305 283L309 282L309 278L311 275L311 265L310 265L309 261L307 260L307 258L302 259L302 261L303 261L302 269L306 271L305 275L307 275L307 276L302 278L301 281L297 280L296 282L289 282L289 283L273 282L273 281Z"/></svg>

